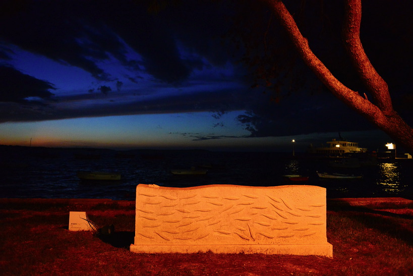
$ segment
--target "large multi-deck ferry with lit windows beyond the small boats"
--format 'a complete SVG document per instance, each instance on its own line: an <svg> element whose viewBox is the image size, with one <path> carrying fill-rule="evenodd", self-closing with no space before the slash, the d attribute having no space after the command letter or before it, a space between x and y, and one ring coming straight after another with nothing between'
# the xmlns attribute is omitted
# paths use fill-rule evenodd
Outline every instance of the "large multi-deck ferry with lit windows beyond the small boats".
<svg viewBox="0 0 413 276"><path fill-rule="evenodd" d="M346 153L367 152L367 148L359 147L359 143L350 142L340 137L339 140L332 139L327 142L327 145L321 145L321 147L310 145L308 152L327 156L340 156Z"/></svg>

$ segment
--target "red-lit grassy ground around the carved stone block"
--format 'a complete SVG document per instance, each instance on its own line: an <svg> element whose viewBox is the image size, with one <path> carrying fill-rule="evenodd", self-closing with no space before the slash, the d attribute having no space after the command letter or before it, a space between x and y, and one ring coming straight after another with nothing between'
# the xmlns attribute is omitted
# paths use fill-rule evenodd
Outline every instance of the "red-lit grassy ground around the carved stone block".
<svg viewBox="0 0 413 276"><path fill-rule="evenodd" d="M110 236L68 231L86 211ZM133 201L0 199L3 275L412 275L413 201L327 201L333 258L264 254L136 254Z"/></svg>

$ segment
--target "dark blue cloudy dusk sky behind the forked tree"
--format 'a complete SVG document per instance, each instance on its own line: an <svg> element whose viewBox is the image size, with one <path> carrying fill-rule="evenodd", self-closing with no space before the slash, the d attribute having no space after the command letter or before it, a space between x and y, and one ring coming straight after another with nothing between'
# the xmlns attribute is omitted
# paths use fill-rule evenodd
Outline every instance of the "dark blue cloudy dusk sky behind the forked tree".
<svg viewBox="0 0 413 276"><path fill-rule="evenodd" d="M330 71L368 94L341 46L342 5L288 1L287 8ZM363 1L361 33L396 111L410 125L412 8L411 1ZM39 122L118 116L128 116L127 125L129 116L143 122L139 116L154 115L145 117L146 126L192 142L375 129L323 87L257 1L11 0L0 4L0 25L5 141L14 131L19 139L31 136ZM258 78L262 72L271 86ZM198 116L182 127L182 114ZM173 128L158 121L161 115ZM54 134L42 135L52 140Z"/></svg>

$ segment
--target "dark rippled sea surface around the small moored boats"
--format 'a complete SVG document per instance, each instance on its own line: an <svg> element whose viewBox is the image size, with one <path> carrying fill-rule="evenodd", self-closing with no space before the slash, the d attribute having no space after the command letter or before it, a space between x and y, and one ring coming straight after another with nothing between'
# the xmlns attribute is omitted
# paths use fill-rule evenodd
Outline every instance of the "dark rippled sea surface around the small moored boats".
<svg viewBox="0 0 413 276"><path fill-rule="evenodd" d="M120 154L124 153L124 154ZM0 197L109 198L134 200L136 185L190 187L211 184L279 186L282 175L309 176L305 185L327 189L328 198L404 197L413 199L413 160L379 159L377 165L332 168L328 160L291 158L286 153L151 151L0 147ZM173 169L210 165L205 176L174 176ZM81 181L78 171L122 174L121 181ZM363 174L363 179L320 179L316 171Z"/></svg>

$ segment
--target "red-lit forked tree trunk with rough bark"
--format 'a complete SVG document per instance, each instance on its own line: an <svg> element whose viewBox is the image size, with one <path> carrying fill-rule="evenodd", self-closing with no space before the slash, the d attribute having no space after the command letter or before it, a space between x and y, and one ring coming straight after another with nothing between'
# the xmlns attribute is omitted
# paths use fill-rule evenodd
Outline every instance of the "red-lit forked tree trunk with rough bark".
<svg viewBox="0 0 413 276"><path fill-rule="evenodd" d="M338 81L315 56L308 41L281 0L266 0L287 32L301 58L327 88L341 101L386 132L396 144L413 153L413 129L394 111L387 83L370 63L360 40L361 0L347 0L343 26L344 46L375 104Z"/></svg>

